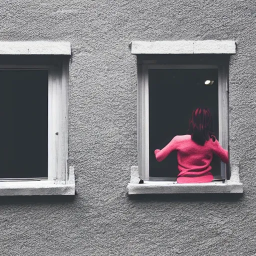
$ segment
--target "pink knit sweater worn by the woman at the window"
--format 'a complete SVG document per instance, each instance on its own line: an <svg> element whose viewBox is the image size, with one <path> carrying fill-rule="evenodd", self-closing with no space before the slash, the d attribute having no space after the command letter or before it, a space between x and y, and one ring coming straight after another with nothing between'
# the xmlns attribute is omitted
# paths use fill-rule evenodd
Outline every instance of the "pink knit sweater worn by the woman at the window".
<svg viewBox="0 0 256 256"><path fill-rule="evenodd" d="M224 163L228 162L228 151L220 146L217 139L213 142L210 138L202 146L195 143L191 135L175 136L164 148L154 150L156 160L162 161L173 150L177 150L178 183L211 182L213 175L210 173L210 162L213 153Z"/></svg>

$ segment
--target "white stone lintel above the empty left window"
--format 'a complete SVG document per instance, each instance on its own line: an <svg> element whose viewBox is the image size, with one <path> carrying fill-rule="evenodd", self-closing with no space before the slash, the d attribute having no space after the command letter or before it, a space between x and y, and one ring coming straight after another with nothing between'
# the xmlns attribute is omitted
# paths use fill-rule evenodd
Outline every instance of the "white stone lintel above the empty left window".
<svg viewBox="0 0 256 256"><path fill-rule="evenodd" d="M71 55L67 41L0 41L0 55Z"/></svg>

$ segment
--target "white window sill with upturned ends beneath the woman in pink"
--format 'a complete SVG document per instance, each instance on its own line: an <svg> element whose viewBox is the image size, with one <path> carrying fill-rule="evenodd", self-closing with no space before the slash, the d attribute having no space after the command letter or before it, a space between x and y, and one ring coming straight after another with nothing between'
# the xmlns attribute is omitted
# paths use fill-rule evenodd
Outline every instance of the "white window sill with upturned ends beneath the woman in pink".
<svg viewBox="0 0 256 256"><path fill-rule="evenodd" d="M178 193L242 193L242 183L239 182L237 166L231 168L231 178L224 183L219 181L209 183L177 183L157 182L138 183L137 166L131 167L131 180L128 183L128 194L178 194Z"/></svg>

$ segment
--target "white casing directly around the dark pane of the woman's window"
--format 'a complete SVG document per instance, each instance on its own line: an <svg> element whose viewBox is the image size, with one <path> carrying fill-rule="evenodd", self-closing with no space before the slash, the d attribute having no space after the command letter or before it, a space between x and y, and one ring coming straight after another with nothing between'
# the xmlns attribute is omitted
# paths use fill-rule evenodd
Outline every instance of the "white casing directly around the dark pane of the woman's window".
<svg viewBox="0 0 256 256"><path fill-rule="evenodd" d="M149 177L149 102L148 102L148 70L149 69L218 69L218 116L219 116L219 143L228 150L228 109L227 109L227 75L223 66L217 65L163 65L163 64L142 64L140 85L138 86L138 158L139 175L143 180L152 179ZM226 164L221 162L221 176L225 178Z"/></svg>

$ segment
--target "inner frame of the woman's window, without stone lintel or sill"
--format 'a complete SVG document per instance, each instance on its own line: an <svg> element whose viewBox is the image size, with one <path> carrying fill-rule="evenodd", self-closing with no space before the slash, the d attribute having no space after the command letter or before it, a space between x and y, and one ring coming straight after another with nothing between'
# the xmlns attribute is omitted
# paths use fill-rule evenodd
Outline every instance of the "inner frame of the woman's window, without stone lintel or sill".
<svg viewBox="0 0 256 256"><path fill-rule="evenodd" d="M138 150L138 175L144 181L168 180L175 181L174 177L149 176L149 107L148 107L148 69L218 69L218 126L219 143L228 150L228 63L220 61L213 63L157 63L156 58L137 63L137 150ZM228 150L229 151L229 150ZM221 161L220 177L214 179L229 179L229 164Z"/></svg>

